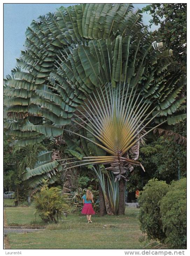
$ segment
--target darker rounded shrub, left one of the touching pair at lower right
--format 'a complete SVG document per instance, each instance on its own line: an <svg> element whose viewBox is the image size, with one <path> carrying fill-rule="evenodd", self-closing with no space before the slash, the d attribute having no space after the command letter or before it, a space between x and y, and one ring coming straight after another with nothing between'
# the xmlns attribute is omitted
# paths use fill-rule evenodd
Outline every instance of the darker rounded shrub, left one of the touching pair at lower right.
<svg viewBox="0 0 190 256"><path fill-rule="evenodd" d="M157 179L149 180L139 196L140 204L140 229L147 234L149 239L158 239L163 242L166 238L162 230L162 221L159 203L166 195L169 185Z"/></svg>

